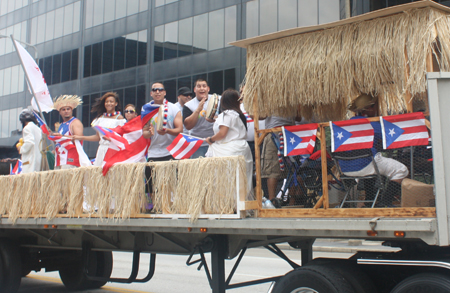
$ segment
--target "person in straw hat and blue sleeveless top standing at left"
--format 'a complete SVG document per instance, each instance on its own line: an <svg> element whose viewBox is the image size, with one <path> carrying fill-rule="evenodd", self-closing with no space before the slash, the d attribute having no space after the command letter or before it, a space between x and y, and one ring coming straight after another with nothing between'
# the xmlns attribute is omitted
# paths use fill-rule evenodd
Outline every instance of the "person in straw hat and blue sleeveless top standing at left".
<svg viewBox="0 0 450 293"><path fill-rule="evenodd" d="M83 123L73 116L73 110L83 102L77 95L59 96L53 101L53 107L58 110L63 123L58 128L57 136L83 135ZM57 145L55 150L55 169L71 169L80 167L78 151L73 141Z"/></svg>

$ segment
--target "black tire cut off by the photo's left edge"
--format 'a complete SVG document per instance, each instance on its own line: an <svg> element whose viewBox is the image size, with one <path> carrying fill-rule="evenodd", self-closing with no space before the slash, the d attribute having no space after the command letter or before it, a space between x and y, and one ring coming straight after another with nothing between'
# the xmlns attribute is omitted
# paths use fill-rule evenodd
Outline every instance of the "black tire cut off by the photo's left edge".
<svg viewBox="0 0 450 293"><path fill-rule="evenodd" d="M8 239L0 238L0 293L17 292L21 279L19 247Z"/></svg>

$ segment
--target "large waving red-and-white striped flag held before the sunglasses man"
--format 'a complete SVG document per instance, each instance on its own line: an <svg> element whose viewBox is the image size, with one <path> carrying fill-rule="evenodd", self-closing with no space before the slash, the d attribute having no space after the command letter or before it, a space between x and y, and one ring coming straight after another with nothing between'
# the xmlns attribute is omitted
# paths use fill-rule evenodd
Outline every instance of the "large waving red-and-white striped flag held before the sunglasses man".
<svg viewBox="0 0 450 293"><path fill-rule="evenodd" d="M123 126L112 129L100 126L94 128L100 135L111 139L103 159L103 176L108 173L109 168L116 164L136 163L145 158L150 146L150 139L145 139L142 136L140 116L128 121Z"/></svg>

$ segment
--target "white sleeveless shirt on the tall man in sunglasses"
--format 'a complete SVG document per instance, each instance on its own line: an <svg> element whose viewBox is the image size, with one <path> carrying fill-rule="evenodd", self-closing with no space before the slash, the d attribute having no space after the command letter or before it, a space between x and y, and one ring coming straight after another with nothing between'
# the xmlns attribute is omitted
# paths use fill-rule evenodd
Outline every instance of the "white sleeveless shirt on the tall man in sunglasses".
<svg viewBox="0 0 450 293"><path fill-rule="evenodd" d="M164 100L165 102L166 100ZM154 101L151 101L150 104L154 104ZM175 106L175 104L168 102L167 103L167 128L174 129L173 121L175 120L175 116L177 116L180 109ZM155 134L151 137L152 142L150 147L148 148L148 157L149 158L161 158L165 156L170 156L169 151L166 149L173 140L175 136L166 133L165 135L160 135L156 131L156 123L158 122L159 113L152 117L150 123L153 125L153 129L155 130Z"/></svg>

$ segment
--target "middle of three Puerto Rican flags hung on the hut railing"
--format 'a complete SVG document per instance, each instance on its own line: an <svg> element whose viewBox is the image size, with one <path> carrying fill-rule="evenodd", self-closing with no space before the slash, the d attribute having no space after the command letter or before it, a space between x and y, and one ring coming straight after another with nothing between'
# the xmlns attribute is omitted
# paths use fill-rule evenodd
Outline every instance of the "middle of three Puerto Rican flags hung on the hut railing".
<svg viewBox="0 0 450 293"><path fill-rule="evenodd" d="M365 118L330 121L331 151L370 149L373 147L374 130Z"/></svg>

